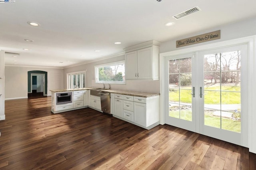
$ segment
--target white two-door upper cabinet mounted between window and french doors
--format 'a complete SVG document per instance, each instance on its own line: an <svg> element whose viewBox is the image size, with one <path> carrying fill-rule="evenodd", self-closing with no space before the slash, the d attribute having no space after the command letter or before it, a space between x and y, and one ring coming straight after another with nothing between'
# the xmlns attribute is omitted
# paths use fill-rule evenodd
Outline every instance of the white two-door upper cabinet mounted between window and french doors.
<svg viewBox="0 0 256 170"><path fill-rule="evenodd" d="M129 47L130 48L130 47ZM125 79L159 79L159 47L151 45L125 54Z"/></svg>

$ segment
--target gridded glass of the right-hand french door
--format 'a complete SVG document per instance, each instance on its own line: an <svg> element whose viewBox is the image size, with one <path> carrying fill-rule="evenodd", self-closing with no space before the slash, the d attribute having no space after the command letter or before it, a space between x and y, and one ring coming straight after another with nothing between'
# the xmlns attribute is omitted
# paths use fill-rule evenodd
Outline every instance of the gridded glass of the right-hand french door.
<svg viewBox="0 0 256 170"><path fill-rule="evenodd" d="M204 125L241 132L240 50L204 55Z"/></svg>

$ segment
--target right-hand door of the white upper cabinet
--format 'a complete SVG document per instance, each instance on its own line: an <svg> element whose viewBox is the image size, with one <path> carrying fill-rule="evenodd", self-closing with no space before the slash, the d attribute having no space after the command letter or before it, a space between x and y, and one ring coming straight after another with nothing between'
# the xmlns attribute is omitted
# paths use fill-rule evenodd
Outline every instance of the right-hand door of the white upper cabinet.
<svg viewBox="0 0 256 170"><path fill-rule="evenodd" d="M137 50L138 79L152 79L152 47Z"/></svg>

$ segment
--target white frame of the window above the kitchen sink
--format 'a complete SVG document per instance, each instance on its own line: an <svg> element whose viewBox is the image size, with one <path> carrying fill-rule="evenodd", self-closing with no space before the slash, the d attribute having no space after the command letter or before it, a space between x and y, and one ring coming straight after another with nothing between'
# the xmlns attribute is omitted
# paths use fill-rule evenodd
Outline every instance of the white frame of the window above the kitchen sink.
<svg viewBox="0 0 256 170"><path fill-rule="evenodd" d="M125 75L125 61L116 61L112 63L105 63L105 64L100 64L100 65L94 65L94 77L95 77L95 83L97 84L126 84L126 79L124 81L99 81L98 80L98 68L101 67L109 67L109 66L114 66L114 65L124 65L124 75Z"/></svg>

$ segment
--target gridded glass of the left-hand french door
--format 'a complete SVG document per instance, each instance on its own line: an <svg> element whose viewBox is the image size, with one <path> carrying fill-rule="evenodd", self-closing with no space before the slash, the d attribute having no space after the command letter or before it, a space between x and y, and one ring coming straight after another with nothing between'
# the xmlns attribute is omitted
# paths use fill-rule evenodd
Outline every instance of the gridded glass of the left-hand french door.
<svg viewBox="0 0 256 170"><path fill-rule="evenodd" d="M169 60L169 116L192 121L192 60Z"/></svg>

